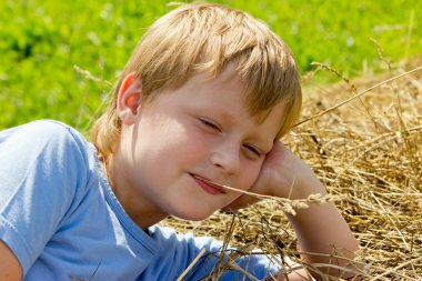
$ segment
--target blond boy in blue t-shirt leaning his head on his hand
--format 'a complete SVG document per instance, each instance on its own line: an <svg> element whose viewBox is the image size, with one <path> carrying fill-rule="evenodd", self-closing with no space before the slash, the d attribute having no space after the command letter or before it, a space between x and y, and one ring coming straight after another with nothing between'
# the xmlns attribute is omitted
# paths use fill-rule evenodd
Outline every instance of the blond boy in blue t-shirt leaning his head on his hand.
<svg viewBox="0 0 422 281"><path fill-rule="evenodd" d="M221 243L155 224L254 202L223 185L293 199L324 194L279 142L300 107L294 61L263 23L218 4L168 13L125 66L94 124L94 145L54 121L0 134L0 280L175 280L202 249L207 259L189 278L207 279ZM289 219L301 250L318 253L305 262L345 265L331 261L333 250L353 258L358 245L332 203ZM238 263L260 279L277 275L264 257ZM242 278L231 270L221 280ZM288 280L309 278L298 269Z"/></svg>

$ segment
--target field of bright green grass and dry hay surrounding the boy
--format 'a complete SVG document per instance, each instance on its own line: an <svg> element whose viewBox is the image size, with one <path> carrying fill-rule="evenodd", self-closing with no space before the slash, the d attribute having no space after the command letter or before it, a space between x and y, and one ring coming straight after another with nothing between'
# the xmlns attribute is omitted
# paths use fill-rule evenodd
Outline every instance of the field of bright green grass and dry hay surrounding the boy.
<svg viewBox="0 0 422 281"><path fill-rule="evenodd" d="M362 274L421 280L422 70L386 80L422 66L422 7L399 0L219 2L268 22L291 47L303 77L301 120L308 121L284 142L334 197L361 244L355 262L366 264ZM88 136L140 36L171 7L1 1L0 130L51 118ZM164 224L295 259L282 210L264 201L234 215Z"/></svg>

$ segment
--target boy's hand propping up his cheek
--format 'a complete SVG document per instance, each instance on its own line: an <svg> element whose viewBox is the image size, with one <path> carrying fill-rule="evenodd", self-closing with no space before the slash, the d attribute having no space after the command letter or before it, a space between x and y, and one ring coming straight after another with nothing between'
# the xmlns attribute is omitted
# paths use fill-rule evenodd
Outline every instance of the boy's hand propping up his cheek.
<svg viewBox="0 0 422 281"><path fill-rule="evenodd" d="M312 169L288 150L281 141L274 142L262 163L258 179L249 191L289 199L304 199L311 193L325 193ZM260 199L243 194L223 210L245 208L258 201Z"/></svg>

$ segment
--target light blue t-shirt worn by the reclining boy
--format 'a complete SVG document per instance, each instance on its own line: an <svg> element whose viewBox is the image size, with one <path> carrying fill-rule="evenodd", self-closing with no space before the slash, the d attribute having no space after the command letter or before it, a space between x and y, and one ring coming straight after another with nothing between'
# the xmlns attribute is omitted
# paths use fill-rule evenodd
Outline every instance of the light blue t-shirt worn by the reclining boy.
<svg viewBox="0 0 422 281"><path fill-rule="evenodd" d="M57 121L0 132L0 239L24 280L175 280L205 248L183 279L201 280L222 249L212 238L140 229L111 190L93 144ZM238 264L259 279L277 271L264 255ZM243 274L231 269L220 280Z"/></svg>

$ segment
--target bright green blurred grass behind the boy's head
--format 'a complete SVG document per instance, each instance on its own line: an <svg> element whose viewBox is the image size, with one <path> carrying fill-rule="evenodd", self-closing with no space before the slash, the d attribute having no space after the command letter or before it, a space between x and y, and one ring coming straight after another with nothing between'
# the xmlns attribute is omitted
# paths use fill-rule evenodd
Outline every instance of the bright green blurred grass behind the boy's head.
<svg viewBox="0 0 422 281"><path fill-rule="evenodd" d="M363 66L381 71L370 38L393 62L422 49L422 7L412 1L218 2L271 26L302 73L313 61L348 77L360 76ZM87 79L73 66L114 82L144 30L170 9L167 1L147 0L1 1L0 129L52 118L87 130L110 86Z"/></svg>

